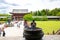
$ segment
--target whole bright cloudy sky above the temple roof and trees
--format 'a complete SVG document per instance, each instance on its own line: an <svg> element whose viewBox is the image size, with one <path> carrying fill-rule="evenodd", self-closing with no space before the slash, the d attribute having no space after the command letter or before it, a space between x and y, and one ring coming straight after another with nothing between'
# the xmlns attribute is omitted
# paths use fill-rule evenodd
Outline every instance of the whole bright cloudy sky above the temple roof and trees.
<svg viewBox="0 0 60 40"><path fill-rule="evenodd" d="M11 12L12 9L42 9L60 8L60 0L0 0L0 13Z"/></svg>

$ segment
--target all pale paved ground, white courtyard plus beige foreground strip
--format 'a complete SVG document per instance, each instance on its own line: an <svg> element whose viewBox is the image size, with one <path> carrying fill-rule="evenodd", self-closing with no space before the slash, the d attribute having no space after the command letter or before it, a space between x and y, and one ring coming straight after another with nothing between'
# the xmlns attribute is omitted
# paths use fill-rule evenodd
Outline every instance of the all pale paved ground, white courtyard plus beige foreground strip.
<svg viewBox="0 0 60 40"><path fill-rule="evenodd" d="M5 29L6 36L1 36L0 40L25 40L25 38L23 38L23 29L23 21L20 28L16 26L8 27ZM60 40L60 35L44 35L42 40Z"/></svg>

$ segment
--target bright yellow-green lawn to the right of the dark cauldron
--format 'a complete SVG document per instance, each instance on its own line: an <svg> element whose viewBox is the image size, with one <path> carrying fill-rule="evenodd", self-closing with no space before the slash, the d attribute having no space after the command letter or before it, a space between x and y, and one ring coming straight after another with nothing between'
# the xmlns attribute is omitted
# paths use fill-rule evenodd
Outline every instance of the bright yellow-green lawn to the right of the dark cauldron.
<svg viewBox="0 0 60 40"><path fill-rule="evenodd" d="M60 29L60 21L36 21L37 27L42 28L44 34L52 34L53 30L56 32Z"/></svg>

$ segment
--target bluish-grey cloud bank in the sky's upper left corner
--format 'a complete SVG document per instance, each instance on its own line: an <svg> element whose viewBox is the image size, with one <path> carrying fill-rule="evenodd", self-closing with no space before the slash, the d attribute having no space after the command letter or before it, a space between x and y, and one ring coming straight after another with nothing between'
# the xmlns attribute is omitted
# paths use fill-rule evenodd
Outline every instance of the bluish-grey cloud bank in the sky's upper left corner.
<svg viewBox="0 0 60 40"><path fill-rule="evenodd" d="M7 3L5 0L0 0L0 13L7 13L10 11L10 7L18 6L18 4Z"/></svg>

